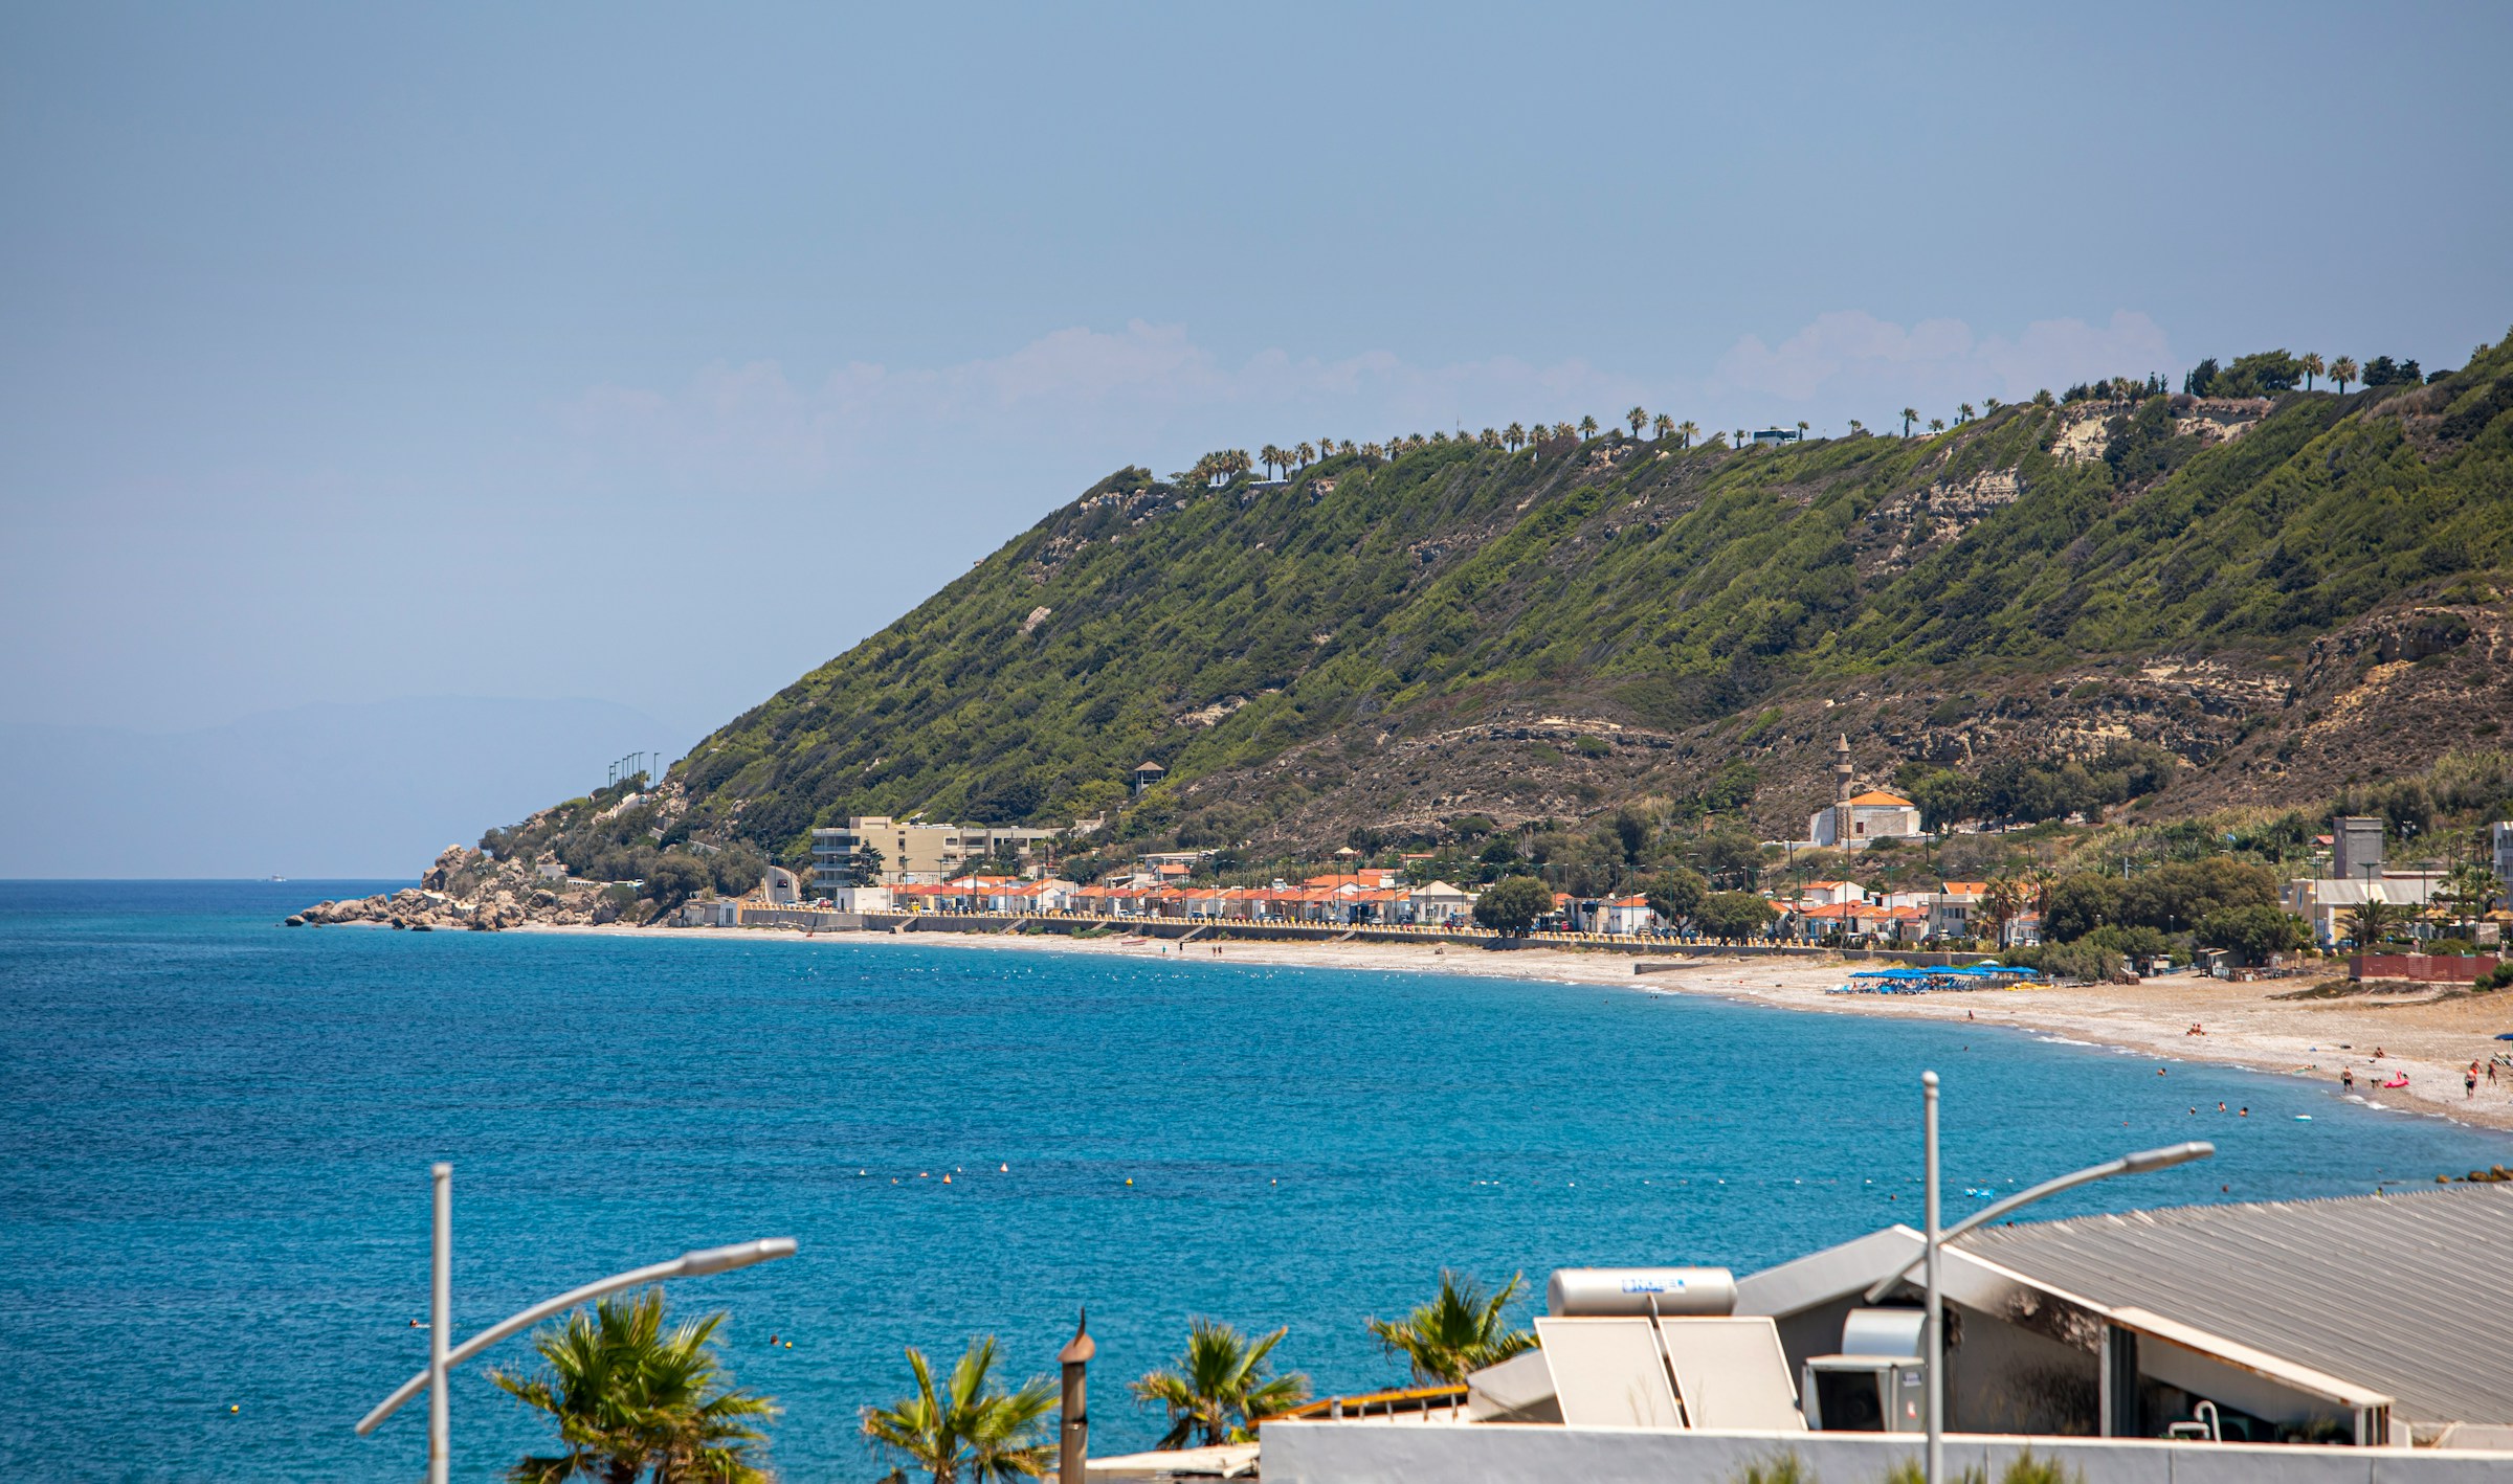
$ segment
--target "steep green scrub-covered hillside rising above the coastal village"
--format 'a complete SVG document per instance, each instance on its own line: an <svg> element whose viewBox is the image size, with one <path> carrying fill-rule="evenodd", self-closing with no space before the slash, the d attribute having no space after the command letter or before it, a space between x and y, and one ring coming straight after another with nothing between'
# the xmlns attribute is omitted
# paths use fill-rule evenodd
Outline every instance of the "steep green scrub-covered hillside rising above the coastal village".
<svg viewBox="0 0 2513 1484"><path fill-rule="evenodd" d="M1802 829L1837 733L1875 778L2134 738L2196 768L2161 811L2317 798L2513 701L2508 412L2513 339L2425 387L1912 439L1123 470L699 743L668 836L1066 821L1143 758L1133 839L1578 816L1739 756Z"/></svg>

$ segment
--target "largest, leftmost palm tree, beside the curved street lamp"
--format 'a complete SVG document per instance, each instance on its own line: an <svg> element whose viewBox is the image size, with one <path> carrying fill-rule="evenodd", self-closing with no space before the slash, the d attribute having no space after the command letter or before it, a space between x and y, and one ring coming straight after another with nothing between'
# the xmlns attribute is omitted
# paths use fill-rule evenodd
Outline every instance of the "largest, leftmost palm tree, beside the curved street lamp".
<svg viewBox="0 0 2513 1484"><path fill-rule="evenodd" d="M508 1479L558 1484L764 1484L751 1419L777 1416L777 1401L734 1391L711 1346L721 1313L663 1331L663 1291L603 1298L533 1336L543 1374L490 1371L490 1381L558 1421L563 1454L525 1454Z"/></svg>

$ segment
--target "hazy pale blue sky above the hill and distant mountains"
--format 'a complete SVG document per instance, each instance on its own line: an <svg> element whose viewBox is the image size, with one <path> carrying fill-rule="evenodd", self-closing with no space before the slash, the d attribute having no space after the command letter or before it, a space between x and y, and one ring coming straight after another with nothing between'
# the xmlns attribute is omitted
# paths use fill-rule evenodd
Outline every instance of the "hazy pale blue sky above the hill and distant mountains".
<svg viewBox="0 0 2513 1484"><path fill-rule="evenodd" d="M696 736L1123 462L2458 364L2505 58L2508 5L10 5L0 721Z"/></svg>

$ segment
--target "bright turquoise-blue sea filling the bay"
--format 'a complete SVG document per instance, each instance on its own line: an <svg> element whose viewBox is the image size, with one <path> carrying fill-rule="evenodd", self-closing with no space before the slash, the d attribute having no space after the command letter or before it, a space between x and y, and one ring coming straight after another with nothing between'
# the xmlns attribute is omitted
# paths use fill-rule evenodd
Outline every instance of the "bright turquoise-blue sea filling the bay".
<svg viewBox="0 0 2513 1484"><path fill-rule="evenodd" d="M880 1471L854 1421L905 1389L900 1346L993 1333L1015 1379L1050 1374L1083 1303L1106 1451L1156 1436L1121 1381L1189 1316L1289 1326L1284 1363L1362 1389L1402 1379L1362 1318L1442 1266L1540 1293L1563 1263L1749 1271L1917 1218L1922 1067L1958 1213L1968 1188L2181 1137L2221 1153L2046 1210L2508 1158L2327 1082L1631 989L276 927L364 889L0 884L0 1471L415 1476L420 1406L372 1439L349 1424L425 1363L440 1158L457 1333L794 1235L792 1261L673 1288L729 1311L736 1379L787 1406L789 1479ZM460 1479L545 1444L477 1368L452 1411Z"/></svg>

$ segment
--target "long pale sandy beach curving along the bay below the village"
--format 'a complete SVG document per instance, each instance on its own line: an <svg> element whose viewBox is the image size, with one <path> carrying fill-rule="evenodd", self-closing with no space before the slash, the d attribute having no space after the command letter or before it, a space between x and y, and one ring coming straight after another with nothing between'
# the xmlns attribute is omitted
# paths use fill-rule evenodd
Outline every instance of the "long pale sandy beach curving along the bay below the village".
<svg viewBox="0 0 2513 1484"><path fill-rule="evenodd" d="M2513 1030L2513 992L2458 994L2435 999L2345 997L2272 999L2302 989L2294 979L2229 984L2196 974L2169 974L2144 984L2071 984L2023 989L1975 989L1965 994L1827 994L1847 977L1842 962L1797 959L1691 959L1651 974L1633 972L1638 962L1621 952L1581 952L1563 947L1523 947L1493 952L1480 944L1390 944L1390 942L1259 942L1211 939L1179 944L1151 939L1126 944L1118 937L1073 939L1066 934L1003 932L802 932L784 927L749 929L641 929L641 927L558 927L525 924L505 932L555 932L603 937L704 937L719 942L912 942L920 947L965 947L993 952L1116 954L1138 959L1211 959L1224 964L1264 964L1297 969L1372 969L1402 974L1460 974L1488 979L1540 979L1556 984L1606 984L1641 994L1704 994L1742 1004L1767 1004L1802 1014L1860 1014L1875 1019L1938 1019L1955 1024L1998 1024L2038 1032L2083 1047L2149 1055L2159 1062L2209 1062L2249 1072L2312 1077L2332 1087L2340 1070L2355 1070L2355 1102L2377 1112L2445 1117L2473 1127L2513 1130L2513 1067L2498 1067L2485 1080L2490 1055L2513 1055L2513 1042L2493 1035ZM2189 1035L2199 1024L2204 1035ZM2375 1050L2385 1055L2375 1060ZM2478 1095L2463 1097L2463 1070L2480 1062ZM2407 1072L2405 1090L2377 1090L2387 1075Z"/></svg>

